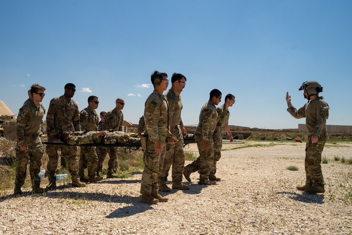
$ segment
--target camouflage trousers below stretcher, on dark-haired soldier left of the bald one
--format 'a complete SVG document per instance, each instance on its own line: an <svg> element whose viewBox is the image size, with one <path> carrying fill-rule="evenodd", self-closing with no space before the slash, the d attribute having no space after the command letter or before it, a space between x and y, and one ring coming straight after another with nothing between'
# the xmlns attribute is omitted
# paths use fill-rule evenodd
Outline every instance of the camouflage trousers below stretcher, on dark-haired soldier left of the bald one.
<svg viewBox="0 0 352 235"><path fill-rule="evenodd" d="M78 161L78 175L84 177L84 169L88 170L88 178L94 178L96 167L98 166L98 156L95 147L81 147L80 160Z"/></svg>

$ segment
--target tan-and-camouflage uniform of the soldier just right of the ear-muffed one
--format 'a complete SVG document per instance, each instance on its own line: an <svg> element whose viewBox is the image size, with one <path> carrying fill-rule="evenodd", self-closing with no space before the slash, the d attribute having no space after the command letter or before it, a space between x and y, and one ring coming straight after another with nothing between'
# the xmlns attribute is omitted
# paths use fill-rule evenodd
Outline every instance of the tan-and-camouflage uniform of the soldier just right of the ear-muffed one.
<svg viewBox="0 0 352 235"><path fill-rule="evenodd" d="M166 184L169 170L172 164L172 183L181 184L184 169L183 153L183 136L181 128L178 126L181 122L181 110L183 108L180 94L175 94L172 87L165 93L168 99L171 119L171 134L178 139L176 144L166 144L166 154L164 159L163 170L160 172L158 179L159 185Z"/></svg>

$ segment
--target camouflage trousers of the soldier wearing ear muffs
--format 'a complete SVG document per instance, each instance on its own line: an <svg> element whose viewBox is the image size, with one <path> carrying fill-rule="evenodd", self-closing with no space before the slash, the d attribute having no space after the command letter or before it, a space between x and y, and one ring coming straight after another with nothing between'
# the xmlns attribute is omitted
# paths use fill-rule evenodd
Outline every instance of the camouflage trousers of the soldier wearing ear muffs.
<svg viewBox="0 0 352 235"><path fill-rule="evenodd" d="M142 180L140 181L140 193L142 195L156 195L159 191L158 177L164 165L166 152L165 140L161 140L160 144L163 148L163 152L156 153L154 142L147 141L147 148L143 154L144 170L142 173Z"/></svg>

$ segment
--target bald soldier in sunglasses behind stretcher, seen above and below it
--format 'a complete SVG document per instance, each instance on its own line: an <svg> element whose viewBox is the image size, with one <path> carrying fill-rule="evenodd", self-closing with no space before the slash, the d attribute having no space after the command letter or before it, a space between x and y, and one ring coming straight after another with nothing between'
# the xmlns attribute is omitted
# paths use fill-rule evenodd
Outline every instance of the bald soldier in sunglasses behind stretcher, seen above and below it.
<svg viewBox="0 0 352 235"><path fill-rule="evenodd" d="M115 103L116 107L107 112L104 117L104 122L101 125L102 130L122 131L122 122L124 121L124 114L121 110L125 107L125 101L121 98L118 98ZM106 154L109 153L110 158L108 161L108 172L106 174L106 178L117 178L117 176L113 174L113 172L117 168L117 147L97 147L96 151L98 154L98 167L96 169L97 174L99 175L99 172L102 170Z"/></svg>

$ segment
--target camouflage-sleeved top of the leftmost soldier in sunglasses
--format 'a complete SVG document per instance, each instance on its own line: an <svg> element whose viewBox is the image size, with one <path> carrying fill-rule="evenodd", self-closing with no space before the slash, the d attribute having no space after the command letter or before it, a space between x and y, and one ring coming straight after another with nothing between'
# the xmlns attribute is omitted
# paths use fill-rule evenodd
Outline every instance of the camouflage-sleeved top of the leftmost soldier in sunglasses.
<svg viewBox="0 0 352 235"><path fill-rule="evenodd" d="M19 110L17 115L17 140L18 143L24 142L24 136L28 134L39 134L40 124L45 114L43 104L39 103L39 108L33 100L26 102Z"/></svg>

